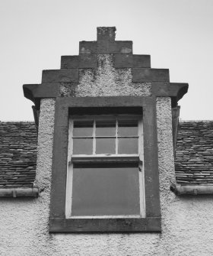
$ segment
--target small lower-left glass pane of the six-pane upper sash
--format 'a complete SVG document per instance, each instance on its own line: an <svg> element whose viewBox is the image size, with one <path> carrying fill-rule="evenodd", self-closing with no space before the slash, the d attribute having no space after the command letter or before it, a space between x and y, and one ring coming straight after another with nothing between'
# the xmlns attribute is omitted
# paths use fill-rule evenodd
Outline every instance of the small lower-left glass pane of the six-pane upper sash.
<svg viewBox="0 0 213 256"><path fill-rule="evenodd" d="M73 154L93 154L92 138L74 138Z"/></svg>

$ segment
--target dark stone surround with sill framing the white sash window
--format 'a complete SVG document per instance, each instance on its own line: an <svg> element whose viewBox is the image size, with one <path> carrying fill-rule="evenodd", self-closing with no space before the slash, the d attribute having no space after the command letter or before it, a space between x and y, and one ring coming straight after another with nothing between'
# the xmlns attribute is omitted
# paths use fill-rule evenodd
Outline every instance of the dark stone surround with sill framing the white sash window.
<svg viewBox="0 0 213 256"><path fill-rule="evenodd" d="M68 118L88 108L141 109L144 131L145 218L67 219L65 217ZM56 98L52 154L49 232L161 232L157 157L156 97L65 97Z"/></svg>

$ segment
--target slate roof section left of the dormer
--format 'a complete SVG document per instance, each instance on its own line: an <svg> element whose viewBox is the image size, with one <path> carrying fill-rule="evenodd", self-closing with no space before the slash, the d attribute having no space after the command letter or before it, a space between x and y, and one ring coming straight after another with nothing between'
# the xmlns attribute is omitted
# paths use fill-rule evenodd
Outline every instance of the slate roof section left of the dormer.
<svg viewBox="0 0 213 256"><path fill-rule="evenodd" d="M37 165L33 122L0 122L0 188L32 187Z"/></svg>

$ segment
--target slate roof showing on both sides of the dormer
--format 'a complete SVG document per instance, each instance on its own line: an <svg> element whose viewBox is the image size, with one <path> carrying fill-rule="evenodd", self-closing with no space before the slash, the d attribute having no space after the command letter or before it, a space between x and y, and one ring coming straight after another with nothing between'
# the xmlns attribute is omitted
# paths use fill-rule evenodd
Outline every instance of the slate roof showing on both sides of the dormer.
<svg viewBox="0 0 213 256"><path fill-rule="evenodd" d="M0 122L0 188L32 187L37 165L33 122ZM176 182L213 185L213 121L180 122Z"/></svg>

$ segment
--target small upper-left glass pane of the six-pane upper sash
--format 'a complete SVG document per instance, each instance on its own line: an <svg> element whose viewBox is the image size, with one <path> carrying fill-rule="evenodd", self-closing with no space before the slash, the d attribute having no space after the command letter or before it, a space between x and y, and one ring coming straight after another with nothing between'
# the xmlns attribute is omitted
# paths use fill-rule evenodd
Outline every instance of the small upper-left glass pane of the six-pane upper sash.
<svg viewBox="0 0 213 256"><path fill-rule="evenodd" d="M92 136L93 121L74 121L73 136Z"/></svg>

